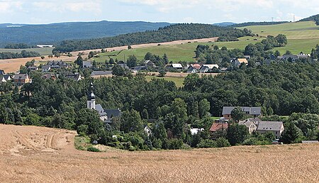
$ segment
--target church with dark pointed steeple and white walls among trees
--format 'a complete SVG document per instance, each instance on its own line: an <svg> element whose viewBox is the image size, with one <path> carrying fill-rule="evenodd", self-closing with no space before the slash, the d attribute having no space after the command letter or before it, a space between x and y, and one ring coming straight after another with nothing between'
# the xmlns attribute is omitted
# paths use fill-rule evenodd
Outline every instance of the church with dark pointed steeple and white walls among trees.
<svg viewBox="0 0 319 183"><path fill-rule="evenodd" d="M121 116L120 109L103 109L101 104L96 104L95 101L95 94L94 94L94 87L93 83L90 84L90 91L87 96L87 106L88 109L94 109L98 111L101 121L105 123L112 123L113 117Z"/></svg>

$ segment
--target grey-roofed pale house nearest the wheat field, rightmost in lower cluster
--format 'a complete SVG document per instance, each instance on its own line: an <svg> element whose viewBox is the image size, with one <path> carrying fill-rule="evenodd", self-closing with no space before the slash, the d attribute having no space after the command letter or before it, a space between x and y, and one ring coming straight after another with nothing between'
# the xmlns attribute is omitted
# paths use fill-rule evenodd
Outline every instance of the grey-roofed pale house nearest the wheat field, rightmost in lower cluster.
<svg viewBox="0 0 319 183"><path fill-rule="evenodd" d="M259 121L257 132L259 133L273 133L276 138L280 138L281 133L284 131L284 124L282 121Z"/></svg>

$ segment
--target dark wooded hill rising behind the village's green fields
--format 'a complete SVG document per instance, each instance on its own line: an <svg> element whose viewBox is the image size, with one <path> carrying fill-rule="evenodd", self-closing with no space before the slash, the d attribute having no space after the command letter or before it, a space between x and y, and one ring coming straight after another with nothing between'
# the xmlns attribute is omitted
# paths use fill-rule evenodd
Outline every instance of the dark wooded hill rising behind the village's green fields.
<svg viewBox="0 0 319 183"><path fill-rule="evenodd" d="M111 38L96 38L90 40L65 40L56 45L53 52L71 52L77 50L91 50L99 48L111 48L123 45L135 45L142 43L161 43L173 40L189 40L198 38L212 38L218 36L240 38L247 35L243 30L225 28L208 24L184 23L174 24L139 33L128 33Z"/></svg>

